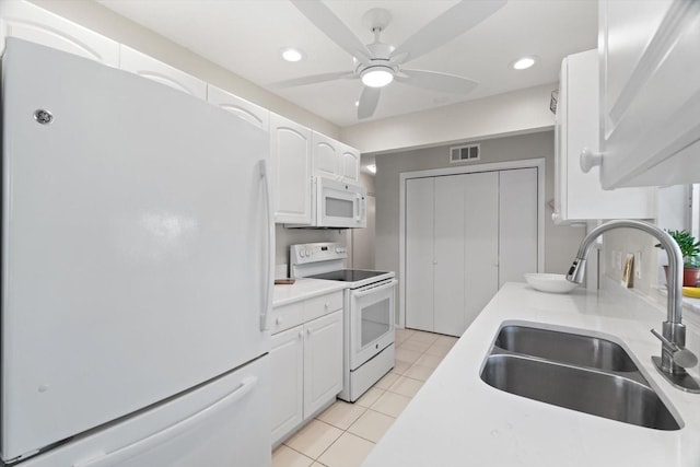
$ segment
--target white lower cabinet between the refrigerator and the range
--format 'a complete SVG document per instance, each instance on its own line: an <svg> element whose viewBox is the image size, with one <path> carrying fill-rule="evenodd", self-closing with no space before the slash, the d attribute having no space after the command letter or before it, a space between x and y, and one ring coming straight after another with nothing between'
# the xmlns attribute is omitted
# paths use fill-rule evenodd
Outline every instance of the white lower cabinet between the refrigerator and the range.
<svg viewBox="0 0 700 467"><path fill-rule="evenodd" d="M272 319L275 446L342 389L342 292L276 308ZM293 327L281 330L284 325Z"/></svg>

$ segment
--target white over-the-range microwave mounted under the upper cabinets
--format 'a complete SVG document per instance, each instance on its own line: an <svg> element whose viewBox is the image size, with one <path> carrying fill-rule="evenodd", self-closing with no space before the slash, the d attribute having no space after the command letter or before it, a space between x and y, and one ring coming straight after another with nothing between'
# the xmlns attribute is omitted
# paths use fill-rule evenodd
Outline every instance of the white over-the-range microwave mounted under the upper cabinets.
<svg viewBox="0 0 700 467"><path fill-rule="evenodd" d="M368 225L368 190L347 182L316 176L312 187L312 222L288 227L358 229Z"/></svg>

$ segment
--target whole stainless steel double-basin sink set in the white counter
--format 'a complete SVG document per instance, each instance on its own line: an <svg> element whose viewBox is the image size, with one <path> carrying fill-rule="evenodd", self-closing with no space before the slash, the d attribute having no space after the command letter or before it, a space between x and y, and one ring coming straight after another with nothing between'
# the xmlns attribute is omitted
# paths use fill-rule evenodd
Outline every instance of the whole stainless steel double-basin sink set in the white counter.
<svg viewBox="0 0 700 467"><path fill-rule="evenodd" d="M617 343L504 326L481 371L488 385L540 402L656 430L681 424Z"/></svg>

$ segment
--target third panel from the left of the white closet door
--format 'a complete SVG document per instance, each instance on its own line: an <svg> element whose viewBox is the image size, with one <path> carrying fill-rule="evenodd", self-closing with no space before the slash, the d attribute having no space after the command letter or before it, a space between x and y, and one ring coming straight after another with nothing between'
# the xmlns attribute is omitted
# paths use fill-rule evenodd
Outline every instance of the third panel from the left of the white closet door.
<svg viewBox="0 0 700 467"><path fill-rule="evenodd" d="M465 329L499 289L499 173L466 175L464 290Z"/></svg>

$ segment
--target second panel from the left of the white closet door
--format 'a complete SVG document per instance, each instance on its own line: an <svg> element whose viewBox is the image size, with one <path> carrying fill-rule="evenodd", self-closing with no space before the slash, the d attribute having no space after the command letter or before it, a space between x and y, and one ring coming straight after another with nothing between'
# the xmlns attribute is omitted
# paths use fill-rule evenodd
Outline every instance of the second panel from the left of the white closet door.
<svg viewBox="0 0 700 467"><path fill-rule="evenodd" d="M465 282L465 187L469 175L435 178L435 332L462 336Z"/></svg>

